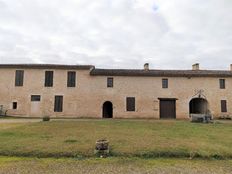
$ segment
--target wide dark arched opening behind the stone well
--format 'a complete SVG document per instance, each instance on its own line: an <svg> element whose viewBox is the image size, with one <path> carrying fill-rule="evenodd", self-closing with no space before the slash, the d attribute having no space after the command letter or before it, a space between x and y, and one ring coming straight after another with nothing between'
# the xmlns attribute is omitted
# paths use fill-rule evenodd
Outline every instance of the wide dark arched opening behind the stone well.
<svg viewBox="0 0 232 174"><path fill-rule="evenodd" d="M204 98L193 98L189 102L190 114L208 114L208 101Z"/></svg>

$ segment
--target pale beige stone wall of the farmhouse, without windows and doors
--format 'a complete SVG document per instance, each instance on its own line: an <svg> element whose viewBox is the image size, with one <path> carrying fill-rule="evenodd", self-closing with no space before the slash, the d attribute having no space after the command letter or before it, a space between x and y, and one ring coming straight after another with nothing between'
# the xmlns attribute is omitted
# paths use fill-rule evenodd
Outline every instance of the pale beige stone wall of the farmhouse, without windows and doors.
<svg viewBox="0 0 232 174"><path fill-rule="evenodd" d="M227 100L227 111L232 114L232 78L226 79L226 89L219 88L216 77L128 77L115 76L114 87L107 88L107 76L90 76L89 70L77 72L77 85L67 87L67 72L54 70L53 87L44 87L46 69L25 69L23 87L15 87L15 70L0 69L0 105L8 108L8 115L22 117L91 117L102 118L102 105L113 103L114 118L159 119L159 99L176 98L177 119L189 117L189 102L201 91L209 103L213 116L221 113L221 100ZM49 69L53 70L53 69ZM162 88L162 78L169 87ZM40 102L31 102L31 95L41 95ZM54 112L54 97L62 95L63 112ZM126 97L135 97L135 112L126 111ZM12 109L12 102L18 109Z"/></svg>

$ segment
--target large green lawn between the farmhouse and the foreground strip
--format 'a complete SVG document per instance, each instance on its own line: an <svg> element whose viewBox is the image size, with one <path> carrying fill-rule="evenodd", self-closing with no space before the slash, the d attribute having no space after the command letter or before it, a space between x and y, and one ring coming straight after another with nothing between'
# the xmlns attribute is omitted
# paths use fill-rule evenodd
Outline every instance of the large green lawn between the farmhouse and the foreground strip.
<svg viewBox="0 0 232 174"><path fill-rule="evenodd" d="M229 123L229 124L228 124ZM0 155L94 157L98 139L114 157L232 158L232 122L75 120L0 123Z"/></svg>

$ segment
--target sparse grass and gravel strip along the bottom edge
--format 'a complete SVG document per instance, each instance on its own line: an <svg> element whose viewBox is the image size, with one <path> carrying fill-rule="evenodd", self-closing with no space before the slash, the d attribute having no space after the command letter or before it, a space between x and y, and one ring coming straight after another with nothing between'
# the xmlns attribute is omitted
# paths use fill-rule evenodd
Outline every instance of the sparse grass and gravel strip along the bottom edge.
<svg viewBox="0 0 232 174"><path fill-rule="evenodd" d="M141 159L89 158L77 160L73 158L19 158L0 157L0 173L15 174L229 174L232 171L231 160L188 160L188 159Z"/></svg>

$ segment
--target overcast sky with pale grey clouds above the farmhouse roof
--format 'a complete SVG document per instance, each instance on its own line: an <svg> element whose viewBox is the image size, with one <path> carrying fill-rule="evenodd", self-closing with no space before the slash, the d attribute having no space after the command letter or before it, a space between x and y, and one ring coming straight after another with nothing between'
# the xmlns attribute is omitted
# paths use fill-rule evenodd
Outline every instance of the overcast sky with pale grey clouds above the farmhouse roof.
<svg viewBox="0 0 232 174"><path fill-rule="evenodd" d="M0 62L229 69L232 0L0 0Z"/></svg>

